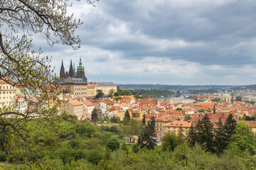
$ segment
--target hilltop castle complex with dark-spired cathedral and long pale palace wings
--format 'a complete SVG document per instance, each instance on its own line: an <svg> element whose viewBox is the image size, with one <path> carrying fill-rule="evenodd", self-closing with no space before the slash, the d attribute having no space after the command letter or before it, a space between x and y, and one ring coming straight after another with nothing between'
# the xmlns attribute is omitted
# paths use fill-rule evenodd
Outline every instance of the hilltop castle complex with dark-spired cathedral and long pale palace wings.
<svg viewBox="0 0 256 170"><path fill-rule="evenodd" d="M75 63L72 64L72 60L70 60L68 72L65 72L63 61L61 62L58 84L64 87L63 94L71 94L75 97L96 96L97 90L102 90L105 96L110 93L110 90L117 91L117 86L113 83L103 83L100 81L98 83L88 83L81 57L76 71Z"/></svg>

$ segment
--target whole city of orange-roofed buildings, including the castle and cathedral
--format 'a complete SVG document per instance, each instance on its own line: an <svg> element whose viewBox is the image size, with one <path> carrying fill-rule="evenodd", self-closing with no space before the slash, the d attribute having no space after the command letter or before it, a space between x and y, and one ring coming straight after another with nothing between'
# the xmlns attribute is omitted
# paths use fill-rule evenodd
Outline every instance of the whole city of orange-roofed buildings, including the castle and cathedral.
<svg viewBox="0 0 256 170"><path fill-rule="evenodd" d="M26 112L28 101L24 98L18 86L0 81L1 108L17 103L18 111ZM188 135L191 126L196 125L204 115L208 115L213 128L217 128L218 120L225 120L231 113L235 120L250 125L256 132L256 92L251 90L222 91L212 94L186 94L186 98L169 98L154 96L135 97L127 89L117 89L112 82L87 81L82 58L78 67L70 61L70 68L65 72L63 61L58 79L58 98L64 102L59 108L59 114L75 115L78 120L92 120L92 111L104 118L117 117L124 120L125 112L131 118L149 122L154 117L156 121L156 136L159 141L166 133L178 134L181 130ZM128 91L129 93L123 93ZM175 93L176 91L174 91ZM178 93L180 93L178 91Z"/></svg>

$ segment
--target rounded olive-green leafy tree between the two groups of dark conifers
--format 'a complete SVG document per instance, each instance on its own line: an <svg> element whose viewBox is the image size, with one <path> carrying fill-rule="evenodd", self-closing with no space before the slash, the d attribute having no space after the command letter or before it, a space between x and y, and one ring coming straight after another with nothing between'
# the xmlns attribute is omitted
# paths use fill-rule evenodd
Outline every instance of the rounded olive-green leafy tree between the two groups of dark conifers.
<svg viewBox="0 0 256 170"><path fill-rule="evenodd" d="M174 151L174 149L178 146L183 144L184 140L183 137L177 136L174 133L167 133L164 135L162 140L162 150L163 151Z"/></svg>

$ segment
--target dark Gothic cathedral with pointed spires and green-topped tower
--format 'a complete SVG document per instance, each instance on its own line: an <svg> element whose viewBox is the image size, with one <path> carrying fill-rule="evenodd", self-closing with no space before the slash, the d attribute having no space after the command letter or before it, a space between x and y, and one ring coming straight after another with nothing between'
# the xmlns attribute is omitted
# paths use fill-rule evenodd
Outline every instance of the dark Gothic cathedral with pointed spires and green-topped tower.
<svg viewBox="0 0 256 170"><path fill-rule="evenodd" d="M82 60L80 57L80 62L77 68L77 72L75 72L75 63L72 64L72 60L70 60L70 69L68 72L65 72L65 68L63 66L63 61L61 62L60 67L60 79L66 79L68 77L71 78L82 78L85 82L87 82L87 78L85 77L85 68L82 66Z"/></svg>

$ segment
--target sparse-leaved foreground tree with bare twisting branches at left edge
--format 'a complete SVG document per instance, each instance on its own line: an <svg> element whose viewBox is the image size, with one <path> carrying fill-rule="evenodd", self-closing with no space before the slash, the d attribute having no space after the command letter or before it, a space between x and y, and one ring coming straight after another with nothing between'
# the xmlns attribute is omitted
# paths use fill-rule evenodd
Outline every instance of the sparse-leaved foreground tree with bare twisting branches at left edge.
<svg viewBox="0 0 256 170"><path fill-rule="evenodd" d="M90 0L88 3L92 4ZM36 142L40 136L32 137L33 128L28 121L43 118L44 121L38 121L42 127L58 131L55 120L61 103L59 86L55 86L57 77L50 68L51 59L42 56L40 48L33 47L32 36L42 35L50 46L62 42L78 49L80 39L75 35L75 29L81 22L73 15L68 16L68 6L70 4L64 0L0 1L0 80L18 87L28 101L25 113L19 113L15 104L1 109L1 149L11 154L17 148L26 148L23 154L26 162L36 162L35 157L27 156L35 147L39 149ZM54 106L53 98L57 101Z"/></svg>

